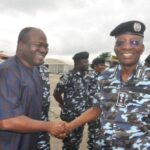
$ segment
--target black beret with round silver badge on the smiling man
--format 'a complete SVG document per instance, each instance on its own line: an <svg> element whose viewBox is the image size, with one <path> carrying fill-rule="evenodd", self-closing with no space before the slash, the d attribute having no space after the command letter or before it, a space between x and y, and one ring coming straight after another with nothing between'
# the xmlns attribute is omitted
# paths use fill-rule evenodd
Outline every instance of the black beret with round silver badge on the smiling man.
<svg viewBox="0 0 150 150"><path fill-rule="evenodd" d="M139 36L144 36L145 25L140 21L128 21L119 24L112 32L111 36L118 36L121 34L135 34Z"/></svg>

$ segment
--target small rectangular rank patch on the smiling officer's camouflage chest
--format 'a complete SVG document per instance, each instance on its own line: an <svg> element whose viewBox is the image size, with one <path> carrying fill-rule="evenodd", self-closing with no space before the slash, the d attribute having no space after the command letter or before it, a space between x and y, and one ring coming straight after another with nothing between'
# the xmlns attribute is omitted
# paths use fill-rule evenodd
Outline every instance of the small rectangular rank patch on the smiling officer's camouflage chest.
<svg viewBox="0 0 150 150"><path fill-rule="evenodd" d="M116 106L125 107L126 106L127 93L119 92L117 96Z"/></svg>

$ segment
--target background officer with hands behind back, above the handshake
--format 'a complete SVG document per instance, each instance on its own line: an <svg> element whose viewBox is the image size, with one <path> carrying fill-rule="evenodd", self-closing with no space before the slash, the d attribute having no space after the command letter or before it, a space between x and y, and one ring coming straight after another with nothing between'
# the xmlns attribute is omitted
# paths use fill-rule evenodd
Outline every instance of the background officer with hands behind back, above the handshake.
<svg viewBox="0 0 150 150"><path fill-rule="evenodd" d="M88 52L79 52L73 56L74 68L60 77L54 90L54 97L61 107L60 118L70 122L87 109L86 74L89 67ZM63 150L78 150L83 136L84 126L73 130L63 140Z"/></svg>

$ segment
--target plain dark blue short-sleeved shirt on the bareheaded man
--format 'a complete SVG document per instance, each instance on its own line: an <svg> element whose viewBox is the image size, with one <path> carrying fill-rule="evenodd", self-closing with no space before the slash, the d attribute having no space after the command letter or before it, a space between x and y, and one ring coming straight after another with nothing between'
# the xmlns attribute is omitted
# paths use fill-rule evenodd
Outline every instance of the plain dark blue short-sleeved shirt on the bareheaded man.
<svg viewBox="0 0 150 150"><path fill-rule="evenodd" d="M36 67L25 67L17 56L0 64L0 119L26 115L41 119L42 80ZM33 150L39 133L0 130L0 150Z"/></svg>

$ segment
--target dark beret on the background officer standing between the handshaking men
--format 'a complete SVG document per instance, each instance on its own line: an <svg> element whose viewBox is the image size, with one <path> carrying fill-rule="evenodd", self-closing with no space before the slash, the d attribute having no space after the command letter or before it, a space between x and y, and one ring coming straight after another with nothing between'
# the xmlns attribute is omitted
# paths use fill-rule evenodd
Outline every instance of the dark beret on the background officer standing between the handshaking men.
<svg viewBox="0 0 150 150"><path fill-rule="evenodd" d="M79 52L79 53L76 53L72 59L74 61L79 61L81 59L88 59L89 58L89 53L88 52Z"/></svg>

